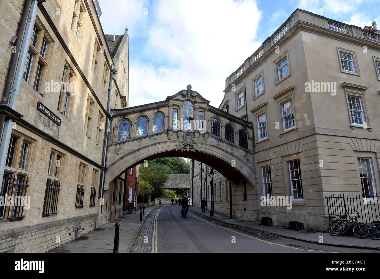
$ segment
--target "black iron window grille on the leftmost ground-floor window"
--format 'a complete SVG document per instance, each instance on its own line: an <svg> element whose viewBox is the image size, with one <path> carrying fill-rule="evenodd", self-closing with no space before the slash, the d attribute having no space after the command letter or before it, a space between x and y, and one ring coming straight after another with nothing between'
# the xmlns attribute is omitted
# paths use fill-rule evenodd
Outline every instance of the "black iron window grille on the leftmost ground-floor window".
<svg viewBox="0 0 380 279"><path fill-rule="evenodd" d="M21 220L24 218L24 205L27 201L26 191L28 188L28 178L25 176L5 173L3 177L0 196L0 219L9 221Z"/></svg>

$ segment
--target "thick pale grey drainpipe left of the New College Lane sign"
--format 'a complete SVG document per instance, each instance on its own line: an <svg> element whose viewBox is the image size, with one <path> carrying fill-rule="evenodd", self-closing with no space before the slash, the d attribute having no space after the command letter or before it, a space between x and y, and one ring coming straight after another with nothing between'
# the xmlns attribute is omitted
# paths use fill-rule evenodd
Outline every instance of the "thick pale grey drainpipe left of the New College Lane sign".
<svg viewBox="0 0 380 279"><path fill-rule="evenodd" d="M36 18L37 10L37 0L26 0L24 5L24 10L22 11L19 28L16 35L16 52L12 53L11 62L9 64L8 75L6 77L5 88L3 93L3 98L1 101L1 106L8 106L14 110L16 107L17 95L20 88L20 82L22 77L22 71L24 68L24 61L28 52L30 36L32 34L33 22ZM29 17L28 17L29 14ZM26 28L25 28L26 25ZM24 33L25 29L25 33ZM22 35L24 33L24 39L22 40ZM21 45L22 40L22 46ZM20 56L19 56L20 54ZM17 63L17 57L19 56L19 63ZM17 68L16 68L17 65ZM15 73L16 71L16 73ZM14 76L14 79L13 79ZM11 89L13 83L13 88ZM12 94L11 94L12 93ZM11 98L9 99L9 95ZM9 104L8 104L9 101ZM5 122L5 124L4 124ZM5 158L8 151L9 139L12 132L12 118L5 119L5 113L0 114L0 129L3 128L3 136L0 145L0 181L2 181L2 176L5 167Z"/></svg>

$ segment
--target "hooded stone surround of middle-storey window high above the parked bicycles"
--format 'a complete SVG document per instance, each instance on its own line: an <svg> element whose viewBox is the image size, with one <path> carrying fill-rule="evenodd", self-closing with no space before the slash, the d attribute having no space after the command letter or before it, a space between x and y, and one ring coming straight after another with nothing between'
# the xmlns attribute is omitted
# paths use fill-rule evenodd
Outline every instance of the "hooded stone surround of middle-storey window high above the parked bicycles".
<svg viewBox="0 0 380 279"><path fill-rule="evenodd" d="M351 113L350 113L350 105L348 103L348 95L359 97L361 99L362 103L362 109L363 109L363 114L364 114L364 121L367 123L367 130L369 132L372 131L372 127L370 124L370 117L368 114L368 108L367 108L367 101L366 101L366 96L364 94L364 91L367 90L368 87L362 87L360 85L354 85L354 84L347 84L347 83L342 83L342 87L344 88L345 92L345 97L346 97L346 104L347 104L347 111L348 111L348 118L350 121L350 128L351 130L354 130L355 128L360 128L363 129L362 125L356 125L352 123L351 119Z"/></svg>

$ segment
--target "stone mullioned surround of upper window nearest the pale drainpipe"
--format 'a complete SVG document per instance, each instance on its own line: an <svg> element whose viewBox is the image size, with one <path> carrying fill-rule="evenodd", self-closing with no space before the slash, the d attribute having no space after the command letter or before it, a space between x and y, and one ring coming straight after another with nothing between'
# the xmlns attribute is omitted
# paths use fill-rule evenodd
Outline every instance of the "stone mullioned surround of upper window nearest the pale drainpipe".
<svg viewBox="0 0 380 279"><path fill-rule="evenodd" d="M24 85L27 86L28 89L30 89L31 92L34 92L36 93L36 96L39 96L38 98L40 97L44 98L46 95L44 94L44 84L45 84L44 81L46 80L47 73L49 72L47 68L49 67L49 62L51 60L52 43L54 43L54 41L51 35L46 31L46 28L44 28L44 25L41 23L41 20L39 19L38 15L36 16L35 22L33 24L33 28L34 26L37 27L38 33L37 33L36 46L33 46L30 42L28 46L28 50L33 54L33 61L30 68L29 79L28 79L28 82L24 80L23 78L21 80L22 82L24 82ZM43 58L40 54L43 39L45 39L45 41L47 42L45 58ZM37 70L38 63L41 63L41 65L43 66L43 70L40 77L40 85L39 85L38 91L36 91L33 88L33 84L36 77L36 70ZM23 65L23 72L24 72L24 69L25 69L25 61Z"/></svg>

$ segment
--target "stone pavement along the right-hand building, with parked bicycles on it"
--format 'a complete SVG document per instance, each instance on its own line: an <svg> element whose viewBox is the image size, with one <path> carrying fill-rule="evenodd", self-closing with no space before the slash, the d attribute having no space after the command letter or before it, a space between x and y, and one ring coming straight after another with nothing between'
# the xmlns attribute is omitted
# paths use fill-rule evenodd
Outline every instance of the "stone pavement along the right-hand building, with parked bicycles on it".
<svg viewBox="0 0 380 279"><path fill-rule="evenodd" d="M206 210L206 213L202 213L201 208L196 206L190 206L190 209L205 216L210 217L210 211ZM260 230L263 232L272 233L274 235L280 235L287 238L293 238L296 240L302 240L312 243L319 243L320 236L323 236L323 243L334 246L343 246L343 247L355 247L355 248L367 248L367 249L379 249L380 250L380 240L373 240L369 236L366 238L357 238L356 236L349 235L339 235L332 236L329 233L323 232L311 232L308 230L290 230L287 227L281 226L264 226L260 223L242 221L236 219L230 219L226 216L217 214L214 212L214 217L210 217L212 219L225 222L227 224L247 227L255 230Z"/></svg>

